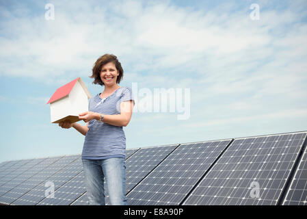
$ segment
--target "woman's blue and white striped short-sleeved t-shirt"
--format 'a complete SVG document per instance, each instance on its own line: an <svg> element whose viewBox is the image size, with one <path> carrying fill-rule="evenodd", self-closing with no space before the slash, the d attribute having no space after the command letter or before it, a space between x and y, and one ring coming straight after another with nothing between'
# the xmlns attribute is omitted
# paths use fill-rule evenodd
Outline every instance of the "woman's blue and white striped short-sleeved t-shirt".
<svg viewBox="0 0 307 219"><path fill-rule="evenodd" d="M133 100L132 90L120 87L105 99L100 94L92 97L88 103L90 112L115 115L120 114L120 103ZM99 123L90 120L88 132L83 144L82 159L108 159L113 157L125 158L126 136L122 127Z"/></svg>

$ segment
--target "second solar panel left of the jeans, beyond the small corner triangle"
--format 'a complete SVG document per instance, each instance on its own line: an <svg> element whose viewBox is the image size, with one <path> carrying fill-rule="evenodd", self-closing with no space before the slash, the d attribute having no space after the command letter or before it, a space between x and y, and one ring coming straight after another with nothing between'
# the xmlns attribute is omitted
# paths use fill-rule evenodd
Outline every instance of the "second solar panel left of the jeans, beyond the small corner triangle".
<svg viewBox="0 0 307 219"><path fill-rule="evenodd" d="M54 197L47 197L37 205L70 205L86 192L83 171L55 190Z"/></svg>

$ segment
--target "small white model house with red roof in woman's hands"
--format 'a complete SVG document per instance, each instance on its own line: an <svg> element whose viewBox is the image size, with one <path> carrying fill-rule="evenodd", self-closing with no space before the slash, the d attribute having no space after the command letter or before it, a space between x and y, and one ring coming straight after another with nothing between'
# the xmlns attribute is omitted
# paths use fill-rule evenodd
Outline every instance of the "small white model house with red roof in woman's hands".
<svg viewBox="0 0 307 219"><path fill-rule="evenodd" d="M79 114L88 111L90 98L91 94L80 77L58 88L48 101L51 123L62 120L70 120L71 123L79 121Z"/></svg>

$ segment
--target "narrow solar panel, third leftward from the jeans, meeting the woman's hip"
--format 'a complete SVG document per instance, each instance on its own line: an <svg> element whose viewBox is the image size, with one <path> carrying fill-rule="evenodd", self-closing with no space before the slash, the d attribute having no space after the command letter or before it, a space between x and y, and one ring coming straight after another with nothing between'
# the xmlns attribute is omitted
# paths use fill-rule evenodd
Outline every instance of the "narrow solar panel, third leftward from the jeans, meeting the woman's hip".
<svg viewBox="0 0 307 219"><path fill-rule="evenodd" d="M52 175L44 182L40 183L40 185L36 186L36 188L18 198L18 200L14 201L12 205L36 205L46 196L49 196L49 193L51 193L48 192L49 189L55 191L64 183L72 179L72 177L78 175L82 171L81 156L72 155L67 158L69 158L66 159L67 162L72 160L70 164L64 166L64 168L59 170L55 175Z"/></svg>

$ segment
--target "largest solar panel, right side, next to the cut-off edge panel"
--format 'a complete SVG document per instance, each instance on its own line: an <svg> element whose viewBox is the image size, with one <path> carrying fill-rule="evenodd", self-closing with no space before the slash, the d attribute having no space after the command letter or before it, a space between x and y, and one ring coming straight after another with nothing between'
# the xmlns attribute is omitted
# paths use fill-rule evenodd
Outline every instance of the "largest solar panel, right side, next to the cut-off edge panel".
<svg viewBox="0 0 307 219"><path fill-rule="evenodd" d="M306 133L237 138L184 205L276 205Z"/></svg>

